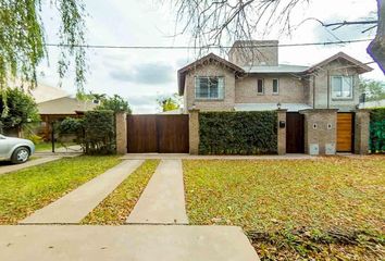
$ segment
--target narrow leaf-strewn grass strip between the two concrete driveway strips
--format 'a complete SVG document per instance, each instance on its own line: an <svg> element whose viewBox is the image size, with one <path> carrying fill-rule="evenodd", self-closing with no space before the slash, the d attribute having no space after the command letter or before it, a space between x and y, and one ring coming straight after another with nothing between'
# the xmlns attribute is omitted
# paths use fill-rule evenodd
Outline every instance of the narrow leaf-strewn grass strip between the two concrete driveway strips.
<svg viewBox="0 0 385 261"><path fill-rule="evenodd" d="M92 225L124 224L158 164L159 160L147 160L90 212L82 223Z"/></svg>

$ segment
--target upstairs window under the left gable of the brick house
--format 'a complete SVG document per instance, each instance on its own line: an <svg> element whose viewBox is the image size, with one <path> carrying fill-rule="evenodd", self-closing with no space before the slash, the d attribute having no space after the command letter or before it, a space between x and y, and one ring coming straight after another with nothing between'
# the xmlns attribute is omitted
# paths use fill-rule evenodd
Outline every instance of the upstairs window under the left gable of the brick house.
<svg viewBox="0 0 385 261"><path fill-rule="evenodd" d="M224 77L196 77L195 97L197 99L223 99Z"/></svg>

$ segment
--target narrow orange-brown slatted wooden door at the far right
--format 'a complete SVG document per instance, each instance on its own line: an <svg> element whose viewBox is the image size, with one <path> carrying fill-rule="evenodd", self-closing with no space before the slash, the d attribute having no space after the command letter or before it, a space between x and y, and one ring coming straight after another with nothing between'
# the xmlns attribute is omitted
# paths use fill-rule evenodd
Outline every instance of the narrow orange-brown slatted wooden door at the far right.
<svg viewBox="0 0 385 261"><path fill-rule="evenodd" d="M351 152L353 147L355 127L353 113L337 113L337 152Z"/></svg>

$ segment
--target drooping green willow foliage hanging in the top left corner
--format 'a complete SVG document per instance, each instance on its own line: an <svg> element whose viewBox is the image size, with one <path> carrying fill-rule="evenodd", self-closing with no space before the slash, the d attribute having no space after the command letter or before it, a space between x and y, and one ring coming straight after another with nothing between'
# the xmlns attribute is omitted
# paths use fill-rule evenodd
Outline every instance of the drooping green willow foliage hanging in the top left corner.
<svg viewBox="0 0 385 261"><path fill-rule="evenodd" d="M36 69L47 57L45 26L41 20L42 0L0 0L0 90L12 78L36 86ZM61 18L59 28L61 59L58 71L66 74L73 57L75 82L83 91L86 73L85 5L82 0L50 1Z"/></svg>

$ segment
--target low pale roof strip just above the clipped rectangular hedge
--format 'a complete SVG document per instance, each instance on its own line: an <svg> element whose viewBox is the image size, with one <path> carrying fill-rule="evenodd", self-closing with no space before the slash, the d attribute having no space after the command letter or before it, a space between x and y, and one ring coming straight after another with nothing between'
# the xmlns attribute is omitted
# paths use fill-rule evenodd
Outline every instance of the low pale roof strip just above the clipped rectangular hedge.
<svg viewBox="0 0 385 261"><path fill-rule="evenodd" d="M277 103L236 103L235 111L273 111L277 110ZM288 112L297 112L300 110L312 109L312 107L305 103L282 103L281 109Z"/></svg>

